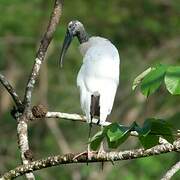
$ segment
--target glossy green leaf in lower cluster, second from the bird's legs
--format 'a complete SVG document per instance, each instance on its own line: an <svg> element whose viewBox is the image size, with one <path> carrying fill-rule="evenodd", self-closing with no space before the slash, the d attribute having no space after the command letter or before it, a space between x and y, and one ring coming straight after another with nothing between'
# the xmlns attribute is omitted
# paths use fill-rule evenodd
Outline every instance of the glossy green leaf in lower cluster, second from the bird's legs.
<svg viewBox="0 0 180 180"><path fill-rule="evenodd" d="M117 148L130 135L130 128L113 123L107 127L107 141L110 148Z"/></svg>

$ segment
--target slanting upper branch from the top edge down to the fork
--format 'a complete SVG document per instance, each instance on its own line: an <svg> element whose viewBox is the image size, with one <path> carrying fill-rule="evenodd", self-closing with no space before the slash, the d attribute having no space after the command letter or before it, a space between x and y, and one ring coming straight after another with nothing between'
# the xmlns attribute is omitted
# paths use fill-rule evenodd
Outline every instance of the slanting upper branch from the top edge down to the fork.
<svg viewBox="0 0 180 180"><path fill-rule="evenodd" d="M31 75L29 77L27 86L26 86L26 92L25 92L25 97L24 97L24 103L26 105L26 108L30 107L32 91L36 83L36 79L39 75L40 66L45 59L47 48L52 40L53 34L59 22L61 13L62 13L62 1L55 0L54 9L51 14L47 30L41 40L39 49L36 54L34 66L33 66Z"/></svg>

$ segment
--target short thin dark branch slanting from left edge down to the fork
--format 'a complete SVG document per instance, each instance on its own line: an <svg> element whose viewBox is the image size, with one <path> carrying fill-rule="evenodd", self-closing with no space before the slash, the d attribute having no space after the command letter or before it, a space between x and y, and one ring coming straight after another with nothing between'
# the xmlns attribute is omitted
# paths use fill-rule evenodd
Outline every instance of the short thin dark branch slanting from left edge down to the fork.
<svg viewBox="0 0 180 180"><path fill-rule="evenodd" d="M15 92L15 89L10 85L8 80L2 74L0 74L0 82L6 88L6 90L9 92L9 94L13 98L15 104L17 105L17 107L21 107L22 102L21 102L19 96L17 95L17 93Z"/></svg>

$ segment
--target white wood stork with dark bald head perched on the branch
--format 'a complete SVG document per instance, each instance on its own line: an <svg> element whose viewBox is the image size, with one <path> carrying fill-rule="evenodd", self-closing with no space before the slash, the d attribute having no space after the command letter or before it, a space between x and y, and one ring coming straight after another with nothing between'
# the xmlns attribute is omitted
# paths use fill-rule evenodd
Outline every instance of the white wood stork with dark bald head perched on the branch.
<svg viewBox="0 0 180 180"><path fill-rule="evenodd" d="M111 113L119 84L119 53L108 39L99 36L89 37L81 22L71 21L68 24L61 50L59 61L61 66L65 53L75 36L80 42L79 48L83 56L83 64L77 75L81 108L86 114L90 127L94 116L98 116L98 123L103 125ZM103 151L102 145L100 149Z"/></svg>

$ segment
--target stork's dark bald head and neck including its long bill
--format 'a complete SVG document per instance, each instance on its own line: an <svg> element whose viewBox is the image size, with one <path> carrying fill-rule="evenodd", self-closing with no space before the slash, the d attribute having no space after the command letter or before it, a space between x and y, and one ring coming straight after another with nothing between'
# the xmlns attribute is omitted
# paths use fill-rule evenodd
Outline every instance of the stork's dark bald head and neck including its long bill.
<svg viewBox="0 0 180 180"><path fill-rule="evenodd" d="M66 54L66 51L75 36L77 36L80 43L86 42L89 39L89 37L84 29L83 24L77 20L71 21L68 24L67 32L66 32L66 36L65 36L65 39L63 42L63 46L62 46L62 50L61 50L61 54L60 54L60 60L59 60L59 64L61 66L62 66L64 56Z"/></svg>

